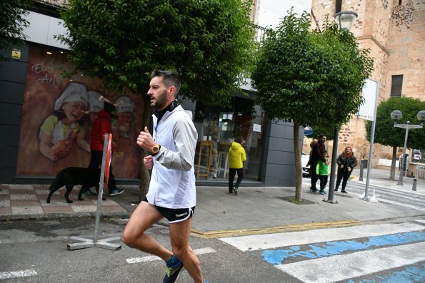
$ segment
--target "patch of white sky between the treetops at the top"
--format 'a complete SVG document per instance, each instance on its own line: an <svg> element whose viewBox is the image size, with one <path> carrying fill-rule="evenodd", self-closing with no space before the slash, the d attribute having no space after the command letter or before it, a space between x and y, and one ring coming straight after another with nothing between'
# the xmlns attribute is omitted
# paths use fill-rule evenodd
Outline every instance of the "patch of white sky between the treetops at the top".
<svg viewBox="0 0 425 283"><path fill-rule="evenodd" d="M279 21L288 14L291 6L294 6L294 12L301 14L303 11L310 12L311 0L259 0L259 26L279 25Z"/></svg>

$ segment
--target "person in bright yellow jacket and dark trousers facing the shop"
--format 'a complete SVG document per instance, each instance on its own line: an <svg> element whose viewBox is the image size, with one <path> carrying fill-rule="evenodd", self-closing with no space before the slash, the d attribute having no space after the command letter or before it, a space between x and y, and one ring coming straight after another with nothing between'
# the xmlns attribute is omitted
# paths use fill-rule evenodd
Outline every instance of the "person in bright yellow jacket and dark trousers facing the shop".
<svg viewBox="0 0 425 283"><path fill-rule="evenodd" d="M229 194L234 193L237 195L239 185L241 185L242 179L244 179L246 153L244 147L241 145L242 142L242 137L238 136L229 148ZM238 179L233 186L236 173L238 173Z"/></svg>

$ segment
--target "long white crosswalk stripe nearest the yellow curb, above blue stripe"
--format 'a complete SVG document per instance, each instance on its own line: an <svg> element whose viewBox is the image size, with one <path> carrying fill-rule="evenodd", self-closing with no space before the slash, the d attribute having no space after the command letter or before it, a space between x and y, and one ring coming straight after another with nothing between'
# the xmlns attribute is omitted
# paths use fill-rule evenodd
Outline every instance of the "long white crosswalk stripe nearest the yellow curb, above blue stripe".
<svg viewBox="0 0 425 283"><path fill-rule="evenodd" d="M413 223L385 223L265 235L225 237L219 240L246 252L248 250L274 249L276 247L306 245L315 242L347 240L418 230L424 230L424 226Z"/></svg>

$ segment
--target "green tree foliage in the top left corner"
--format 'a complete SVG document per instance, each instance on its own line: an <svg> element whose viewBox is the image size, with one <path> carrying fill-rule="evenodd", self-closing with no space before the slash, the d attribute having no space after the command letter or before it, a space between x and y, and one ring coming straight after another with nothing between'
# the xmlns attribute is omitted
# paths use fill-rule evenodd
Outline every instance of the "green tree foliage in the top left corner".
<svg viewBox="0 0 425 283"><path fill-rule="evenodd" d="M0 1L0 49L24 45L24 28L29 26L24 16L28 14L31 0ZM7 60L0 56L0 61Z"/></svg>

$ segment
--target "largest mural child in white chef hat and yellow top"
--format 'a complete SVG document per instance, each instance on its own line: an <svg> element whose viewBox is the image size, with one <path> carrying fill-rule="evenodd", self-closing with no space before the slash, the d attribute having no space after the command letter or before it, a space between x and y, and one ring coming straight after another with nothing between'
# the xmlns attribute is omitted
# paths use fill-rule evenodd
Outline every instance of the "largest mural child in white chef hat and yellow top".
<svg viewBox="0 0 425 283"><path fill-rule="evenodd" d="M54 113L44 120L39 130L40 153L52 161L64 158L74 142L90 151L84 139L82 123L88 106L87 88L81 83L69 83L54 103Z"/></svg>

